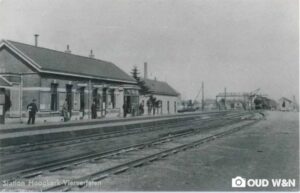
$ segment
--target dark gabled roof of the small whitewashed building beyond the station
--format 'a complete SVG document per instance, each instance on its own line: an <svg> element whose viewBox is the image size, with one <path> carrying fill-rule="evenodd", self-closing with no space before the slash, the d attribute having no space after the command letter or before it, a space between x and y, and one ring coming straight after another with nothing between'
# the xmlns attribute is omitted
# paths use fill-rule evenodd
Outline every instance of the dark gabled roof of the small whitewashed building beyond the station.
<svg viewBox="0 0 300 193"><path fill-rule="evenodd" d="M179 93L168 83L158 80L143 79L152 94L179 96Z"/></svg>

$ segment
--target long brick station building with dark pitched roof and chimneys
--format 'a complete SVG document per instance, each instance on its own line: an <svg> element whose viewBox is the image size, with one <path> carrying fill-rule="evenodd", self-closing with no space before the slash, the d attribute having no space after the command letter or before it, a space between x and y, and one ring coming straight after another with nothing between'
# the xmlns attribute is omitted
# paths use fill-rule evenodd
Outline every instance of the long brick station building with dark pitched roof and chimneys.
<svg viewBox="0 0 300 193"><path fill-rule="evenodd" d="M98 117L121 116L123 105L138 106L139 87L135 79L115 64L60 52L37 45L2 40L0 42L0 92L10 98L7 120L22 120L27 105L36 99L42 121L61 120L68 103L71 119L90 117L96 101ZM24 121L24 120L23 120Z"/></svg>

